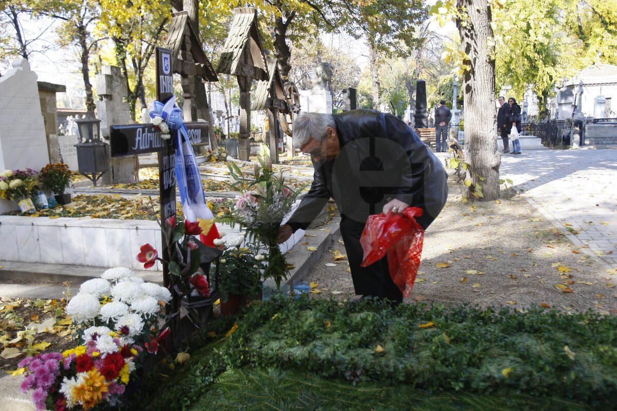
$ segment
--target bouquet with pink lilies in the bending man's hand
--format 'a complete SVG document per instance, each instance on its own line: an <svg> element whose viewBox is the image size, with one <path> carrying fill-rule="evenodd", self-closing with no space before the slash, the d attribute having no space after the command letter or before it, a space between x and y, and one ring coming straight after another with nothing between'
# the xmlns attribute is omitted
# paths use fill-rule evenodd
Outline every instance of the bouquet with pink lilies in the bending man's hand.
<svg viewBox="0 0 617 411"><path fill-rule="evenodd" d="M268 147L262 144L260 157L254 163L254 179L244 176L235 163L227 163L231 185L241 195L236 196L236 205L231 212L231 223L237 223L247 232L252 242L262 243L268 249L268 263L264 279L274 279L280 289L281 280L289 270L285 256L278 245L281 222L291 212L296 197L305 185L294 190L285 185L283 170L273 173Z"/></svg>

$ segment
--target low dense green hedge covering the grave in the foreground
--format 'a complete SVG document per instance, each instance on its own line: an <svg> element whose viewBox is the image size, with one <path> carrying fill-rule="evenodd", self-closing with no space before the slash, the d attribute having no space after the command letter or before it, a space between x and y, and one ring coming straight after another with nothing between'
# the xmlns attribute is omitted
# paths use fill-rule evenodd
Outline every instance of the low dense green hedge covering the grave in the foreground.
<svg viewBox="0 0 617 411"><path fill-rule="evenodd" d="M432 393L524 394L595 409L612 409L617 396L617 319L594 312L442 304L392 311L303 296L252 304L225 338L233 321L219 319L186 341L191 360L161 371L168 378L149 373L139 395L156 393L147 409L193 409L223 373L257 367L333 378L350 388L378 383Z"/></svg>

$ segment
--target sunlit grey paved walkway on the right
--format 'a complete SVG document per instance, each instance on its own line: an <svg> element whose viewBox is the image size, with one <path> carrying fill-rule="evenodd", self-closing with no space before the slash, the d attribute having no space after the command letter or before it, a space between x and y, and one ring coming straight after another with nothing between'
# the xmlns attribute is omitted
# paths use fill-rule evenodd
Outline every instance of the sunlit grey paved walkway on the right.
<svg viewBox="0 0 617 411"><path fill-rule="evenodd" d="M578 245L617 268L617 150L528 150L504 155L502 179Z"/></svg>

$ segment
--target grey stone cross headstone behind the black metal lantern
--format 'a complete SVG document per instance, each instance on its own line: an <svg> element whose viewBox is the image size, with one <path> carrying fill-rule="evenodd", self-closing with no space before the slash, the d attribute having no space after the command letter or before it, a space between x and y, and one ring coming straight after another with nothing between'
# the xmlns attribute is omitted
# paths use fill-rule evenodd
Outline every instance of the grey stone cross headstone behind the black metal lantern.
<svg viewBox="0 0 617 411"><path fill-rule="evenodd" d="M96 75L96 89L99 95L97 117L101 120L101 136L109 140L109 126L129 124L131 112L126 96L126 79L119 67L103 66ZM118 184L139 181L139 160L137 157L112 158L108 155L107 173L102 174L102 184ZM73 169L73 168L72 168ZM77 169L77 168L75 168Z"/></svg>

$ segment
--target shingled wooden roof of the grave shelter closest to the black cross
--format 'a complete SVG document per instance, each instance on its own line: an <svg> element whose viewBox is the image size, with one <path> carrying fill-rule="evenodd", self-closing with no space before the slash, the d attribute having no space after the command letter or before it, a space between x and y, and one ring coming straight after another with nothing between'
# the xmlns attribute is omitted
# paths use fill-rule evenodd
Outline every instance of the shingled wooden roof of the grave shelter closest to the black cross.
<svg viewBox="0 0 617 411"><path fill-rule="evenodd" d="M188 12L181 11L172 14L172 22L167 33L167 47L172 51L174 73L180 75L194 74L207 81L218 81L217 73L201 47L197 30L189 20ZM193 57L194 73L190 72L192 66L186 67L187 52L191 52Z"/></svg>

